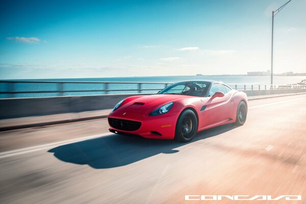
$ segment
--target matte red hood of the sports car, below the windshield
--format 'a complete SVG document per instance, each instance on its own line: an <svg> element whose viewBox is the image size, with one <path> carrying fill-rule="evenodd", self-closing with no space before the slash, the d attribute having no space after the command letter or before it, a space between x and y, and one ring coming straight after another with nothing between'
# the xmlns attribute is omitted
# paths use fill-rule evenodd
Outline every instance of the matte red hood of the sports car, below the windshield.
<svg viewBox="0 0 306 204"><path fill-rule="evenodd" d="M146 113L147 111L154 111L164 104L186 97L191 96L175 94L146 95L129 101L129 103L120 107L120 110L124 112Z"/></svg>

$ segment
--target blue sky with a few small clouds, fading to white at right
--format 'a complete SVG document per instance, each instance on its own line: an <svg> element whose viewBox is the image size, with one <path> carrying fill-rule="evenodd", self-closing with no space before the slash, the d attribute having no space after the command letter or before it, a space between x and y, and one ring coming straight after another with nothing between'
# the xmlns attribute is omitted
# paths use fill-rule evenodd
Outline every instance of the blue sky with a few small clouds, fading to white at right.
<svg viewBox="0 0 306 204"><path fill-rule="evenodd" d="M0 79L246 74L270 69L286 0L0 0ZM306 0L274 17L274 73L306 72Z"/></svg>

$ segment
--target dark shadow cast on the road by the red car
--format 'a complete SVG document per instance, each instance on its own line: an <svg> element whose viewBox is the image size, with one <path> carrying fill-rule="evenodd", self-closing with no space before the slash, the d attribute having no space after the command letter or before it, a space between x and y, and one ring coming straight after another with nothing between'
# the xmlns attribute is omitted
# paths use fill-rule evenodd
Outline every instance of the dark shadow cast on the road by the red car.
<svg viewBox="0 0 306 204"><path fill-rule="evenodd" d="M235 129L234 124L225 124L198 133L192 142L214 137ZM171 154L174 148L190 144L175 140L145 139L139 136L111 135L75 142L48 150L61 161L87 164L92 168L113 168L131 164L154 155Z"/></svg>

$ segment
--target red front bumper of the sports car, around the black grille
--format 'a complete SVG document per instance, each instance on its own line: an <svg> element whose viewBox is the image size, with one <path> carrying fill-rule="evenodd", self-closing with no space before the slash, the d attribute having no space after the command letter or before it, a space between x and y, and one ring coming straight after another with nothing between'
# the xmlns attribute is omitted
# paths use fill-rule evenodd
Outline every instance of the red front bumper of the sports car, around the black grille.
<svg viewBox="0 0 306 204"><path fill-rule="evenodd" d="M168 112L158 116L145 116L141 113L122 112L120 110L116 110L110 113L108 117L141 122L141 126L136 131L124 131L116 129L110 125L110 132L140 135L144 138L173 139L175 135L175 125L177 118L179 117L179 113Z"/></svg>

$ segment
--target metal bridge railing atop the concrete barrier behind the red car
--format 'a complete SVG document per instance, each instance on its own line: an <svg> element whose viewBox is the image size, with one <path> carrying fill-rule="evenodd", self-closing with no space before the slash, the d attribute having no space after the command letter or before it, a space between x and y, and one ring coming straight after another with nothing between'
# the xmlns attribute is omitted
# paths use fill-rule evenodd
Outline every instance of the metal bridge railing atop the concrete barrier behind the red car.
<svg viewBox="0 0 306 204"><path fill-rule="evenodd" d="M0 98L157 93L165 82L0 81ZM233 89L306 89L306 85L228 84Z"/></svg>

